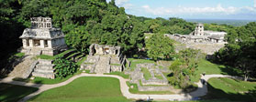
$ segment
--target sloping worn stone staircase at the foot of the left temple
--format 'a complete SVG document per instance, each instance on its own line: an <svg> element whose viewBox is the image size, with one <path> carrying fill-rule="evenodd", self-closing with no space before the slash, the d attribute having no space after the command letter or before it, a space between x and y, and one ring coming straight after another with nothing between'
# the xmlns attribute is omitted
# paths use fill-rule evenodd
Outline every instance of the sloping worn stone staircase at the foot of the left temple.
<svg viewBox="0 0 256 102"><path fill-rule="evenodd" d="M33 60L33 56L25 56L8 76L28 78L36 64L37 61Z"/></svg>

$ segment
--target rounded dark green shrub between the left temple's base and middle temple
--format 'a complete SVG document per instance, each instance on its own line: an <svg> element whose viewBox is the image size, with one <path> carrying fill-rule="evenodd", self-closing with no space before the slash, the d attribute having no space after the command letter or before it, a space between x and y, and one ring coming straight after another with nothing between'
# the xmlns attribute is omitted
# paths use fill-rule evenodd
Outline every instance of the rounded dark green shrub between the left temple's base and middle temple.
<svg viewBox="0 0 256 102"><path fill-rule="evenodd" d="M55 65L55 76L61 78L72 75L78 67L74 62L60 57L56 58L53 64Z"/></svg>

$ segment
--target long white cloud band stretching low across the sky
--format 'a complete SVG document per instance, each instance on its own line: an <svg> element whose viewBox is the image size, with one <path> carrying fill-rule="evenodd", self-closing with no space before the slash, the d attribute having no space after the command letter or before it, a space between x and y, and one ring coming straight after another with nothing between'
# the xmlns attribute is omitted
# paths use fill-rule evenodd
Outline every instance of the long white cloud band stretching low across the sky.
<svg viewBox="0 0 256 102"><path fill-rule="evenodd" d="M178 6L175 8L157 7L152 8L150 5L141 6L146 12L152 15L235 15L243 11L249 11L256 14L256 8L245 7L223 7L217 5L215 7L183 7Z"/></svg>

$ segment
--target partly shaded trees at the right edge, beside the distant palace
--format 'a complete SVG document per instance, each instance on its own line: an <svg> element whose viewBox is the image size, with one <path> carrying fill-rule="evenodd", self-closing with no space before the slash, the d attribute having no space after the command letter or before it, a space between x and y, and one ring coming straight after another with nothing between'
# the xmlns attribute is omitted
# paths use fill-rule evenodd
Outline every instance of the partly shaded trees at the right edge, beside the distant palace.
<svg viewBox="0 0 256 102"><path fill-rule="evenodd" d="M234 66L244 72L245 80L256 74L256 23L232 29L226 36L228 44L214 56L215 61Z"/></svg>

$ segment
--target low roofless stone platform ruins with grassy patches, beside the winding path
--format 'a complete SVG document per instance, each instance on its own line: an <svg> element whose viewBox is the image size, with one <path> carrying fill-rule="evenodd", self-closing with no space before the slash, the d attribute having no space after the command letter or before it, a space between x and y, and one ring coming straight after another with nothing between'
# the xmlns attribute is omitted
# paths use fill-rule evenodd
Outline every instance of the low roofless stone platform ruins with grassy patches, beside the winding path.
<svg viewBox="0 0 256 102"><path fill-rule="evenodd" d="M144 77L142 68L149 70L151 76L149 79ZM130 75L129 82L137 84L139 91L172 91L173 93L181 93L182 90L174 89L169 85L166 76L164 76L162 72L170 73L170 70L166 72L164 71L165 69L167 68L164 67L163 69L160 69L159 66L151 63L137 64L133 71L128 72ZM161 76L161 79L156 76Z"/></svg>

